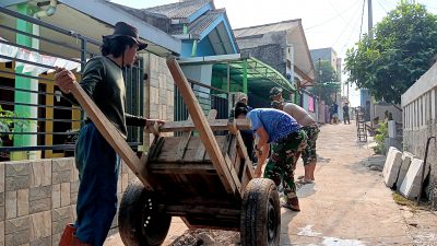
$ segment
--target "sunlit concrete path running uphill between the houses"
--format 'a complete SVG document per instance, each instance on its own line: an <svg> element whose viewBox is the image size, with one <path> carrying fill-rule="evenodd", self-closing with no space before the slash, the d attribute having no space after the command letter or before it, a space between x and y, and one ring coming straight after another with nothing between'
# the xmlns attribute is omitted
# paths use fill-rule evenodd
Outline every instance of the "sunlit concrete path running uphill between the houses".
<svg viewBox="0 0 437 246"><path fill-rule="evenodd" d="M436 214L394 203L381 173L366 167L383 160L355 139L354 122L321 128L316 184L299 188L302 212L282 209L281 245L437 245ZM303 174L302 163L296 173ZM174 219L165 245L186 230ZM105 244L118 245L118 235Z"/></svg>

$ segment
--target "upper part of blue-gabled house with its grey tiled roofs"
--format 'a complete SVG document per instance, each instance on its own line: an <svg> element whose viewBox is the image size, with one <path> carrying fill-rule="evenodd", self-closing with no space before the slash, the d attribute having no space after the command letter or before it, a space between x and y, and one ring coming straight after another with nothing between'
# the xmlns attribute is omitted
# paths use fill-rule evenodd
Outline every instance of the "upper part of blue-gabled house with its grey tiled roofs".
<svg viewBox="0 0 437 246"><path fill-rule="evenodd" d="M208 50L204 44L211 43L216 54L238 52L226 10L215 9L213 0L186 0L147 9L111 4L184 42L201 42L208 37L200 44L203 50ZM187 47L182 48L182 56L187 56Z"/></svg>

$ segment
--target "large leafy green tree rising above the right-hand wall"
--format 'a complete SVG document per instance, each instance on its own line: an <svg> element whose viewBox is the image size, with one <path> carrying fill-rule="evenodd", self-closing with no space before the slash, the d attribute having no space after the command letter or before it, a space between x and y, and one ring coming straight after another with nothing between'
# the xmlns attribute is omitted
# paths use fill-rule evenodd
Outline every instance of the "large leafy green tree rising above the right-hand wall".
<svg viewBox="0 0 437 246"><path fill-rule="evenodd" d="M432 66L437 54L437 16L423 4L402 1L349 49L349 82L368 89L376 99L399 104L401 95Z"/></svg>

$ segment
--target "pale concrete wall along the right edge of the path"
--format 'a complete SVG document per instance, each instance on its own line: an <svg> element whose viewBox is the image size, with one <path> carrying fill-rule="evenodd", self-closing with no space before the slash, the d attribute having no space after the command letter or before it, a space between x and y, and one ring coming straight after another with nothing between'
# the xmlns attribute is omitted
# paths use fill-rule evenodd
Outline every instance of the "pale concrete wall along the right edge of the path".
<svg viewBox="0 0 437 246"><path fill-rule="evenodd" d="M424 160L426 141L437 136L437 63L403 95L403 149ZM430 142L427 163L430 165L428 198L437 209L437 143Z"/></svg>

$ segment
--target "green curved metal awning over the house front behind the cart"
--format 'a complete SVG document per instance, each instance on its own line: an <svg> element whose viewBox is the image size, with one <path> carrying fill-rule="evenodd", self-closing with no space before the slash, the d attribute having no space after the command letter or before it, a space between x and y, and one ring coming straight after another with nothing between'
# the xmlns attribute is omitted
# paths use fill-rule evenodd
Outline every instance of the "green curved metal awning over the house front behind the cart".
<svg viewBox="0 0 437 246"><path fill-rule="evenodd" d="M229 67L229 79L240 84L247 90L258 95L269 97L270 89L280 86L286 92L296 91L294 83L290 82L277 70L265 65L253 57L241 57L240 54L184 58L179 60L184 65L213 65L213 73L221 73L227 78L227 68Z"/></svg>

